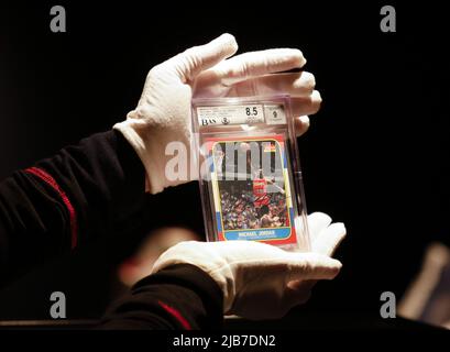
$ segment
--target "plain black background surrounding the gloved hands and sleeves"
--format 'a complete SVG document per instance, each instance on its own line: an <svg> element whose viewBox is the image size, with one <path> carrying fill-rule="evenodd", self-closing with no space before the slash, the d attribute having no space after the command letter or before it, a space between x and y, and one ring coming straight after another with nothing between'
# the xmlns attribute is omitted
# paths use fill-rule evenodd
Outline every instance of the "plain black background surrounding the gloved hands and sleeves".
<svg viewBox="0 0 450 352"><path fill-rule="evenodd" d="M67 33L52 33L63 4ZM0 4L0 176L31 165L134 108L147 70L222 32L240 52L298 47L323 105L299 140L308 211L343 221L343 271L315 288L309 312L377 315L399 298L426 245L449 244L449 25L442 4L396 4L382 33L372 4L295 2L50 2ZM0 318L48 318L54 290L69 318L96 318L110 268L149 228L202 231L197 184L150 199L141 229L107 234L0 294ZM136 223L135 221L133 223Z"/></svg>

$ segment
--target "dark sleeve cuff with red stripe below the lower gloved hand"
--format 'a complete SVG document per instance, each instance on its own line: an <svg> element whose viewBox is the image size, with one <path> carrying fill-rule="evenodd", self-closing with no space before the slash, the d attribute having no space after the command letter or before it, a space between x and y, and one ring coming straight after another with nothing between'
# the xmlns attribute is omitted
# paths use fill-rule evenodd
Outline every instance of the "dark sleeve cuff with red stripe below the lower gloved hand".
<svg viewBox="0 0 450 352"><path fill-rule="evenodd" d="M222 327L222 311L216 282L194 265L177 264L134 285L99 329L213 330Z"/></svg>

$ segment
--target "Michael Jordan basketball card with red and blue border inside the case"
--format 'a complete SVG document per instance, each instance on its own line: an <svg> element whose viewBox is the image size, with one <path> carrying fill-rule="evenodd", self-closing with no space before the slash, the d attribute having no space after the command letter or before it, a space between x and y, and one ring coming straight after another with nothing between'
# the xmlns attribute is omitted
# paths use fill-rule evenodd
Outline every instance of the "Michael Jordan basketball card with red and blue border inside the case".
<svg viewBox="0 0 450 352"><path fill-rule="evenodd" d="M207 145L218 240L296 243L283 135L213 138Z"/></svg>

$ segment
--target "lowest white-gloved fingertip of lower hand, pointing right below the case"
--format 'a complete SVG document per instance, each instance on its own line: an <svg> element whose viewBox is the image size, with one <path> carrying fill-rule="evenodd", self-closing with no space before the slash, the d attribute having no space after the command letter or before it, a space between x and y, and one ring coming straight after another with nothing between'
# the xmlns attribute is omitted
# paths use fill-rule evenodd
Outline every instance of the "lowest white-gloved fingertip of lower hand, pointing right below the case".
<svg viewBox="0 0 450 352"><path fill-rule="evenodd" d="M341 267L341 262L319 253L287 253L286 263L289 267L287 282L296 279L332 279Z"/></svg>

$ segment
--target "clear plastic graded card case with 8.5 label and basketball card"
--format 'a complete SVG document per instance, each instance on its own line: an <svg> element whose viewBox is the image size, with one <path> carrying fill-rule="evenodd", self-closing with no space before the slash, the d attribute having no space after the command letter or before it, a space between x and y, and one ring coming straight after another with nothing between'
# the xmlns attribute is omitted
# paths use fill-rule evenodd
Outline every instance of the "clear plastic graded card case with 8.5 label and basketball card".
<svg viewBox="0 0 450 352"><path fill-rule="evenodd" d="M286 95L193 101L209 241L261 241L309 250L289 102Z"/></svg>

